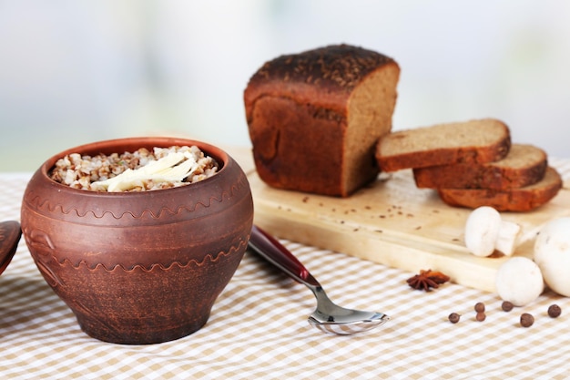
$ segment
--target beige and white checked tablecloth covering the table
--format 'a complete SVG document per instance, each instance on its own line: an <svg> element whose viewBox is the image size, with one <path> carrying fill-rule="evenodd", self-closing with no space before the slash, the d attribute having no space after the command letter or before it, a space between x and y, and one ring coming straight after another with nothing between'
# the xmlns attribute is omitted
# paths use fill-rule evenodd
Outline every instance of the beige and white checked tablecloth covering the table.
<svg viewBox="0 0 570 380"><path fill-rule="evenodd" d="M251 169L247 159L236 158ZM30 175L0 173L0 221L19 220ZM362 334L323 334L307 323L315 307L309 289L247 252L208 324L197 333L163 344L107 344L80 330L22 239L0 276L0 375L489 379L562 378L570 370L570 298L547 291L534 303L505 313L494 293L453 283L430 293L416 291L406 283L414 273L282 242L333 301L387 313L391 321ZM486 305L483 322L475 320L478 302ZM546 313L552 303L563 311L556 319ZM448 321L453 312L462 315L458 324ZM534 325L521 327L521 313L532 313Z"/></svg>

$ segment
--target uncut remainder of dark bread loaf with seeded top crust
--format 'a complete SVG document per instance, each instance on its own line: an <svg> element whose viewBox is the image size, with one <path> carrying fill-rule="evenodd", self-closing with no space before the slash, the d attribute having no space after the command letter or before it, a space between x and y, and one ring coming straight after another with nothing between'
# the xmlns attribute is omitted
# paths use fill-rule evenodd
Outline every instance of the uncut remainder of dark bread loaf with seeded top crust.
<svg viewBox="0 0 570 380"><path fill-rule="evenodd" d="M400 67L357 46L279 56L244 91L253 158L272 187L346 197L376 179Z"/></svg>

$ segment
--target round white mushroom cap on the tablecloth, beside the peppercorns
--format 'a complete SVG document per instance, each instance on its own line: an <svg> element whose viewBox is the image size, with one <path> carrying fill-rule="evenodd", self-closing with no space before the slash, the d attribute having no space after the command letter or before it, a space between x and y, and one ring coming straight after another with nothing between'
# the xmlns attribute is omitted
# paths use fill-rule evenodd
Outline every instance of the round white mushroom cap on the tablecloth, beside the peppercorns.
<svg viewBox="0 0 570 380"><path fill-rule="evenodd" d="M522 256L512 257L499 267L495 286L503 301L509 301L514 306L532 303L545 290L538 265Z"/></svg>

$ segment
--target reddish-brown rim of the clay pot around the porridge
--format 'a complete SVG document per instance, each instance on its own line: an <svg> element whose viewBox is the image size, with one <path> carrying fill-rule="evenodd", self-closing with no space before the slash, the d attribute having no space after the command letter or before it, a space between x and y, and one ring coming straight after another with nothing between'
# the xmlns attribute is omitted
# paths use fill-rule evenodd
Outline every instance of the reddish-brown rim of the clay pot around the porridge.
<svg viewBox="0 0 570 380"><path fill-rule="evenodd" d="M56 164L57 159L61 159L62 157L71 154L71 153L79 153L79 154L97 154L100 152L104 152L107 154L111 153L122 153L121 151L134 151L139 148L147 148L152 149L154 147L158 148L168 148L171 146L197 146L200 150L204 152L204 154L212 157L213 159L218 162L219 169L218 172L209 177L205 180L200 180L196 183L191 183L185 186L179 186L176 188L168 188L168 189L160 189L160 190L147 190L147 191L120 191L120 192L107 192L107 191L91 191L91 190L81 190L75 189L72 187L67 186L66 184L57 182L56 180L52 180L49 177L49 171L54 167ZM117 149L118 147L126 147ZM164 191L176 191L176 190L188 190L188 186L193 188L198 186L204 186L209 180L216 178L221 172L223 172L231 158L229 157L228 153L226 153L223 149L220 149L214 145L211 145L207 142L195 140L195 139L185 139L185 138L177 138L177 137L166 137L166 136L157 136L157 137L131 137L131 138L123 138L123 139L106 139L100 141L94 141L87 144L78 145L74 148L65 149L54 156L46 159L46 161L37 169L41 176L48 180L53 186L61 187L62 189L66 189L69 191L78 191L83 194L89 196L97 196L97 197L141 197L141 196L148 196L149 192L156 192L159 191L163 193Z"/></svg>

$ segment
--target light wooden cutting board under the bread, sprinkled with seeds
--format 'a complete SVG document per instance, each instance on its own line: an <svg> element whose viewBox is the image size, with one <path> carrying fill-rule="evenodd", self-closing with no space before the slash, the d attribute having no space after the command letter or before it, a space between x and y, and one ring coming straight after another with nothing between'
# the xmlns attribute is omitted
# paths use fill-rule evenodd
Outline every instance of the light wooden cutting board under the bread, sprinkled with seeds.
<svg viewBox="0 0 570 380"><path fill-rule="evenodd" d="M248 171L255 223L277 237L412 273L441 271L453 282L494 292L495 273L506 258L480 258L467 252L463 227L470 210L449 207L433 190L416 188L411 170L381 176L346 199L276 190L265 185L254 169ZM567 189L536 211L503 213L504 220L522 226L523 237L514 254L532 257L541 226L568 215Z"/></svg>

